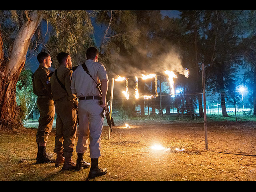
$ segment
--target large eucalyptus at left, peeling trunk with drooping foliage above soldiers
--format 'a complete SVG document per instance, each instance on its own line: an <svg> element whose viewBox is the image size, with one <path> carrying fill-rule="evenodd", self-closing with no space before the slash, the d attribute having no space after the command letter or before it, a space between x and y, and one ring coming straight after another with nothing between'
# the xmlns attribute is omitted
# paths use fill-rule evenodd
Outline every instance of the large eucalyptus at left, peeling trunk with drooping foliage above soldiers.
<svg viewBox="0 0 256 192"><path fill-rule="evenodd" d="M57 39L62 36L61 34L72 37L72 40L65 44L67 48L63 49L68 51L70 48L70 52L78 51L77 44L86 44L81 38L84 38L84 33L92 33L92 24L86 11L1 11L0 16L0 124L22 126L16 109L16 84L24 67L31 40L39 40L38 26L42 20L52 22L56 27ZM82 19L78 20L78 17ZM82 27L83 34L76 33L76 27ZM60 40L60 43L64 42L64 39Z"/></svg>

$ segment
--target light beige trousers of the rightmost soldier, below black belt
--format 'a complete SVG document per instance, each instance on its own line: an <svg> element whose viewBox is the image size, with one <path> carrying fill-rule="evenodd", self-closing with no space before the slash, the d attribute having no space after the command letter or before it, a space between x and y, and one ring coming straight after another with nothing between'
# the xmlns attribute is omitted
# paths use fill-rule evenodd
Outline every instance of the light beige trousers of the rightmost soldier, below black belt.
<svg viewBox="0 0 256 192"><path fill-rule="evenodd" d="M104 118L99 102L100 100L80 100L78 103L79 135L76 152L85 153L89 141L90 158L101 156L100 140Z"/></svg>

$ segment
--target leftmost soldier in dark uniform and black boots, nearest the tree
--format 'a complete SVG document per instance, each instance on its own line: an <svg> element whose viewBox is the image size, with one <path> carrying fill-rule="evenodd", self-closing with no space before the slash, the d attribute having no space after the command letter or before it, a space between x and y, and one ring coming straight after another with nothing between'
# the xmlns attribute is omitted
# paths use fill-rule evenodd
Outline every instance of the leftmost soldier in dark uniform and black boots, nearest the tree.
<svg viewBox="0 0 256 192"><path fill-rule="evenodd" d="M37 106L40 113L38 131L36 133L38 146L36 163L39 164L53 161L52 154L46 153L46 143L52 131L55 109L50 85L50 70L48 70L52 64L51 57L48 53L41 52L38 54L37 60L39 67L33 74L33 92L38 96Z"/></svg>

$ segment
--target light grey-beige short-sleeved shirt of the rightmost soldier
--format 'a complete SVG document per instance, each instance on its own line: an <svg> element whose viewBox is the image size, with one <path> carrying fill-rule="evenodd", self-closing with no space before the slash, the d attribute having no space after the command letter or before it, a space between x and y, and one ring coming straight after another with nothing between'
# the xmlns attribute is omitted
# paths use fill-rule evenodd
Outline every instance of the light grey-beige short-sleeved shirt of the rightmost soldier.
<svg viewBox="0 0 256 192"><path fill-rule="evenodd" d="M108 81L108 74L102 63L88 59L85 64L97 83L100 83L103 79ZM72 74L71 91L78 98L84 96L101 96L96 88L96 83L84 71L82 65L78 66Z"/></svg>

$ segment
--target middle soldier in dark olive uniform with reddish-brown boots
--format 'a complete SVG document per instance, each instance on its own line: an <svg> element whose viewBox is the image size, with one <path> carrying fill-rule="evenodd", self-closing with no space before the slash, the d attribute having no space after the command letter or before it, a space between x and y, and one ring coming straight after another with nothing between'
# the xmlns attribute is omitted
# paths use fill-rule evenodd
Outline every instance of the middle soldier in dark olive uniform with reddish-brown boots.
<svg viewBox="0 0 256 192"><path fill-rule="evenodd" d="M72 161L76 138L78 100L70 89L72 78L72 61L68 53L61 52L57 56L60 63L51 76L52 96L56 104L56 135L54 152L57 154L55 166L62 170L73 170L76 164ZM83 160L81 168L88 168L90 163Z"/></svg>

